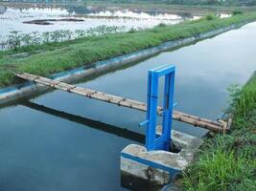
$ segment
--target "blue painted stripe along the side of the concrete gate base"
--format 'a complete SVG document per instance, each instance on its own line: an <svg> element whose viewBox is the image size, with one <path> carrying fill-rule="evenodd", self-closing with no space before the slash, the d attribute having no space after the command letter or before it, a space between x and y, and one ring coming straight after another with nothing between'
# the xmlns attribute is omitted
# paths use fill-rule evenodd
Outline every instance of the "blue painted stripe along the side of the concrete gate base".
<svg viewBox="0 0 256 191"><path fill-rule="evenodd" d="M134 160L134 161L136 161L136 162L145 164L145 165L147 165L147 166L151 166L152 168L157 168L157 169L161 169L161 170L167 171L167 172L169 172L170 177L173 177L173 176L175 176L177 173L180 172L179 170L177 170L177 169L175 169L175 168L171 168L171 167L165 166L165 165L160 164L160 163L156 163L156 162L151 161L151 160L148 160L148 159L138 158L138 157L129 155L129 154L127 154L127 153L121 153L121 157L126 158L126 159Z"/></svg>

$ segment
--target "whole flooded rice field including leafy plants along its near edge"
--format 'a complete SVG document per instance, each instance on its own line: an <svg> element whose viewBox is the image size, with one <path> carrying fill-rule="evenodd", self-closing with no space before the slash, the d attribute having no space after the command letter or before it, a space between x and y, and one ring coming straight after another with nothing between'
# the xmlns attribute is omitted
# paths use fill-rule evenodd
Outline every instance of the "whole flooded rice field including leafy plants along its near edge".
<svg viewBox="0 0 256 191"><path fill-rule="evenodd" d="M144 30L160 24L173 25L198 19L190 13L99 9L88 6L18 6L0 4L0 50L49 42Z"/></svg>

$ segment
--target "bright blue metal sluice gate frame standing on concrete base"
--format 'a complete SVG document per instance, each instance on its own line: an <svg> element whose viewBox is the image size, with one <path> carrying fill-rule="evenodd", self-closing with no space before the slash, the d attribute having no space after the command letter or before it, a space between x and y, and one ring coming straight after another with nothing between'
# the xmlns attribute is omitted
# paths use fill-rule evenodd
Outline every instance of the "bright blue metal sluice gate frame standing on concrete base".
<svg viewBox="0 0 256 191"><path fill-rule="evenodd" d="M157 126L157 100L159 78L165 77L164 99L163 99L163 119L162 135L156 135ZM165 150L170 151L172 117L174 107L175 92L175 66L166 65L152 69L148 74L148 100L147 100L147 119L140 125L146 125L146 148L148 151Z"/></svg>

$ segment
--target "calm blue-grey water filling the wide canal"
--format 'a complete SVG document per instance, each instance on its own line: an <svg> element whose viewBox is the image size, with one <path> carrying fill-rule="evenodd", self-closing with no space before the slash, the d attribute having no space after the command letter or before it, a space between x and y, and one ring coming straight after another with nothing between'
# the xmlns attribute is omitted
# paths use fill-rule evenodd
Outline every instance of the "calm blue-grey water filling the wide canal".
<svg viewBox="0 0 256 191"><path fill-rule="evenodd" d="M226 88L244 84L256 69L255 31L256 23L247 24L78 85L145 101L148 70L173 63L175 109L216 119L228 106ZM145 132L138 127L144 119L142 112L60 91L2 108L0 190L122 190L120 151L142 144L132 132ZM174 129L205 133L179 122Z"/></svg>

